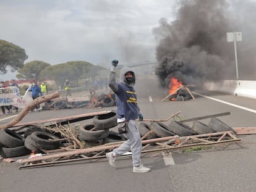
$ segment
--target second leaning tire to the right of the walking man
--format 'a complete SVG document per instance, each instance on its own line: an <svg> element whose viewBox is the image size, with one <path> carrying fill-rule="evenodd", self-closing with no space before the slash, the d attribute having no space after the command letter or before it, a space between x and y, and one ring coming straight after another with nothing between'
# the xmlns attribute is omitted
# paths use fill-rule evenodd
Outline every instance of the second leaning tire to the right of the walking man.
<svg viewBox="0 0 256 192"><path fill-rule="evenodd" d="M154 133L159 137L174 136L175 133L168 130L168 125L161 122L151 122L149 129L153 130Z"/></svg>

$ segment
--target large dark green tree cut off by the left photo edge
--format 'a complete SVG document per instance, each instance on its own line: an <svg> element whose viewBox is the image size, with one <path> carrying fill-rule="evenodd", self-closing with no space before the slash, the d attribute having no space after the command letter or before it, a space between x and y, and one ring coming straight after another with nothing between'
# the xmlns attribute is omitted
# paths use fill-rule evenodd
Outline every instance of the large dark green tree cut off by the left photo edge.
<svg viewBox="0 0 256 192"><path fill-rule="evenodd" d="M11 72L23 67L24 61L28 58L25 50L19 46L0 40L0 73L7 73L6 67L11 67Z"/></svg>

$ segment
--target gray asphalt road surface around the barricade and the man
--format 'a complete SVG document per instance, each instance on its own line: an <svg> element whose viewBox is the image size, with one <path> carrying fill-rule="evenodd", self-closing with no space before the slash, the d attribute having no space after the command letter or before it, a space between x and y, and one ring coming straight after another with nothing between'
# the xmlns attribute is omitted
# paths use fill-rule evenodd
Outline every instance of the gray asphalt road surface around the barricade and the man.
<svg viewBox="0 0 256 192"><path fill-rule="evenodd" d="M161 102L168 93L161 90L157 80L152 77L138 79L136 90L145 119L167 119L178 111L181 111L181 119L231 112L231 115L219 119L231 127L256 125L255 99L190 88L194 91L194 100ZM108 109L116 107L31 112L21 122ZM11 118L11 115L1 117L0 123L7 123ZM207 123L208 120L203 122ZM1 159L0 191L255 191L256 135L238 137L242 139L239 144L224 145L208 151L174 151L169 154L168 161L161 154L155 157L143 154L143 164L151 168L149 173L132 173L130 157L119 158L116 169L110 167L106 159L101 159L20 170L20 164L4 163Z"/></svg>

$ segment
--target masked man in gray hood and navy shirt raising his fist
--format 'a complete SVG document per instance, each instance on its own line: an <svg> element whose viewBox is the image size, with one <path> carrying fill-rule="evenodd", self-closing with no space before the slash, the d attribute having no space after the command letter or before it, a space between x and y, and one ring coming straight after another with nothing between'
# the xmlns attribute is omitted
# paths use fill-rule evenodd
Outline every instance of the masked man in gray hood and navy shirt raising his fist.
<svg viewBox="0 0 256 192"><path fill-rule="evenodd" d="M137 128L135 119L143 120L143 115L139 112L137 105L137 95L134 90L135 85L135 73L129 67L121 69L120 80L121 82L116 83L116 66L117 60L111 62L111 70L109 72L108 84L109 88L116 93L117 99L117 122L121 123L126 121L128 123L127 133L124 136L127 140L121 144L118 148L112 152L106 153L106 157L109 164L112 167L116 167L116 157L124 154L131 149L132 151L132 164L133 172L135 173L146 173L150 171L150 168L143 166L141 162L141 151L142 143L140 140L140 133Z"/></svg>

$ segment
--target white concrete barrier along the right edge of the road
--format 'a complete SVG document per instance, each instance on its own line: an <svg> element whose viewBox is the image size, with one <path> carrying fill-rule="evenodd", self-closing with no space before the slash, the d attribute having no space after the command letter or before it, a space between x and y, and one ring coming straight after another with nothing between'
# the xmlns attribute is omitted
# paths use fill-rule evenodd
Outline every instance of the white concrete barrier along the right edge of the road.
<svg viewBox="0 0 256 192"><path fill-rule="evenodd" d="M222 80L218 82L207 82L205 88L211 91L233 94L256 99L256 81L244 80Z"/></svg>

